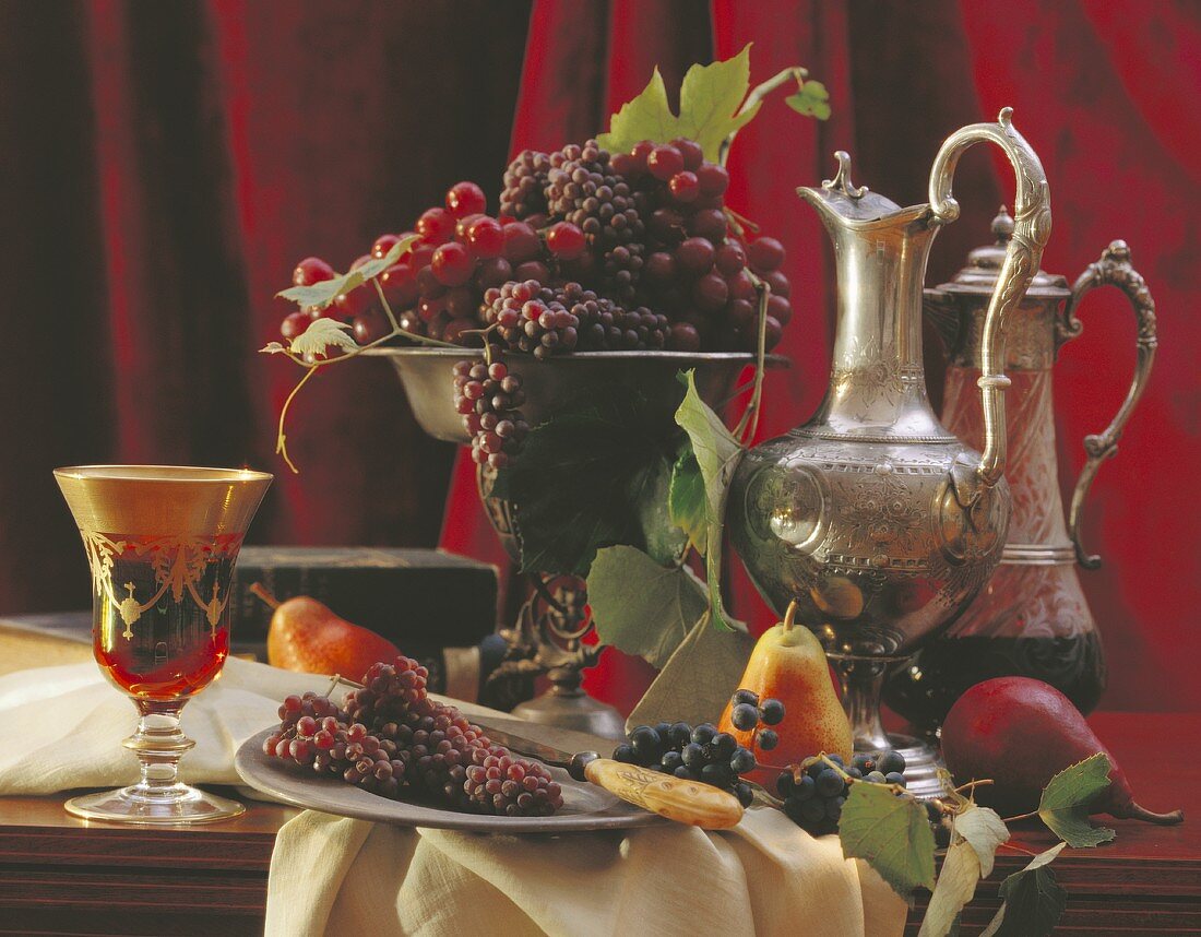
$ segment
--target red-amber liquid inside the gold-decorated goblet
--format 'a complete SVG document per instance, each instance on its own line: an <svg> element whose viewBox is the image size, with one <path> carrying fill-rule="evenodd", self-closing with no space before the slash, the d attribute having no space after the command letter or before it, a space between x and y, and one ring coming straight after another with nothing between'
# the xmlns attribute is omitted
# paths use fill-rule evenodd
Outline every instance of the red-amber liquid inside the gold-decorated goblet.
<svg viewBox="0 0 1201 937"><path fill-rule="evenodd" d="M195 584L204 601L211 598L215 584L220 584L222 593L228 587L234 559L221 555L204 563ZM151 560L116 559L113 592L118 601L129 596L131 583L133 597L141 603L149 602L163 585L155 577ZM151 608L126 625L112 601L97 597L91 637L101 670L124 692L151 700L191 697L213 682L229 656L229 607L213 626L186 586L177 599L168 585Z"/></svg>

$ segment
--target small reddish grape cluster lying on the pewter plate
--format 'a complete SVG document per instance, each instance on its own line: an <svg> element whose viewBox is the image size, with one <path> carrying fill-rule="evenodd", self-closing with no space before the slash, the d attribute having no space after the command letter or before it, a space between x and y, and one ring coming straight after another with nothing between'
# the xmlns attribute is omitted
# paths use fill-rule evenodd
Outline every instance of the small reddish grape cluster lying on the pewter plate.
<svg viewBox="0 0 1201 937"><path fill-rule="evenodd" d="M382 796L411 787L459 810L509 817L544 817L563 805L544 765L494 746L458 709L430 699L428 676L398 657L371 666L364 687L346 694L345 711L324 697L288 697L263 750ZM295 711L307 702L327 715L294 717L293 702Z"/></svg>

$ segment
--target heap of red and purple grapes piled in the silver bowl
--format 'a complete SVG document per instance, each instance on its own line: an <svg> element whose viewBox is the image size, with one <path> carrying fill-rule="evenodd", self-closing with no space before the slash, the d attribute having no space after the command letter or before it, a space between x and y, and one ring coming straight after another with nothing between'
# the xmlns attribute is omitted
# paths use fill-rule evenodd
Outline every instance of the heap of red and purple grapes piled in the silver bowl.
<svg viewBox="0 0 1201 937"><path fill-rule="evenodd" d="M723 166L683 138L643 141L617 154L596 141L551 154L525 150L504 172L498 216L485 214L479 186L458 183L412 232L382 234L352 269L416 233L411 251L378 277L400 327L458 345L479 345L480 330L491 327L483 340L539 358L661 347L753 351L758 277L771 288L771 348L791 317L784 249L731 225L729 181ZM328 263L309 257L293 281L334 276ZM533 294L518 302L530 281ZM579 310L562 296L570 290L591 291L584 302L597 311ZM359 344L390 329L378 293L364 285L327 310L293 312L281 332L295 338L322 315L353 326Z"/></svg>

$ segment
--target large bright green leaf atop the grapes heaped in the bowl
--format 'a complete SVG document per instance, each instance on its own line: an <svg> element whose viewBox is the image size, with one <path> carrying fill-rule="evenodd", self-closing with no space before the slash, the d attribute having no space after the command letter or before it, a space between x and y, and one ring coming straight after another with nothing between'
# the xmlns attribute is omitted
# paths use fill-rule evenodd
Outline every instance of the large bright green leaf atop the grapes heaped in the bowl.
<svg viewBox="0 0 1201 937"><path fill-rule="evenodd" d="M663 76L656 68L643 91L609 120L597 142L610 153L628 151L644 139L668 143L697 141L705 159L716 161L722 141L749 123L761 102L739 112L751 90L751 43L730 59L693 65L680 85L680 115L671 113Z"/></svg>

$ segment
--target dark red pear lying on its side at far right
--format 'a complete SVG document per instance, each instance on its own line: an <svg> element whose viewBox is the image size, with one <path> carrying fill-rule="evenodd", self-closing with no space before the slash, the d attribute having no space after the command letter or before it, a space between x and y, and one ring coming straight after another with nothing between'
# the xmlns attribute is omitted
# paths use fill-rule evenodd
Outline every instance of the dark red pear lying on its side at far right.
<svg viewBox="0 0 1201 937"><path fill-rule="evenodd" d="M1038 810L1059 771L1098 752L1110 759L1110 786L1092 813L1147 823L1179 823L1182 811L1152 813L1134 801L1130 782L1071 700L1041 680L1002 676L968 690L943 723L943 757L957 783L992 778L975 789L980 804L1003 816Z"/></svg>

